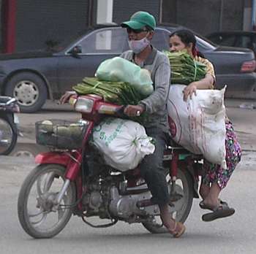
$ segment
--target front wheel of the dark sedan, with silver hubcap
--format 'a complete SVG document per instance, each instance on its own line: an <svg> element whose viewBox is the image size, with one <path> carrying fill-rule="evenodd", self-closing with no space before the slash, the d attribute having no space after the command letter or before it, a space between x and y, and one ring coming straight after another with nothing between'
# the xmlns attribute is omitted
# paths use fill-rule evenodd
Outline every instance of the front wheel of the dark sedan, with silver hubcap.
<svg viewBox="0 0 256 254"><path fill-rule="evenodd" d="M44 80L37 74L20 72L7 82L5 94L17 99L20 112L32 113L45 104L48 92Z"/></svg>

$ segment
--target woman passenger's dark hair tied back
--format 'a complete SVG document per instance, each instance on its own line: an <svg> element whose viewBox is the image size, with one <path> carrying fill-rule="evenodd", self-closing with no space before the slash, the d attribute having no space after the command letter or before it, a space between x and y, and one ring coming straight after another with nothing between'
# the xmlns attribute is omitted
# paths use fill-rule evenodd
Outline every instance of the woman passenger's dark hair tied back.
<svg viewBox="0 0 256 254"><path fill-rule="evenodd" d="M183 42L187 47L189 46L189 43L192 43L192 54L194 57L200 56L201 58L205 58L204 55L200 53L195 47L197 39L195 39L195 35L192 33L192 31L187 29L180 29L170 34L170 37L174 35L178 36L181 39L181 42Z"/></svg>

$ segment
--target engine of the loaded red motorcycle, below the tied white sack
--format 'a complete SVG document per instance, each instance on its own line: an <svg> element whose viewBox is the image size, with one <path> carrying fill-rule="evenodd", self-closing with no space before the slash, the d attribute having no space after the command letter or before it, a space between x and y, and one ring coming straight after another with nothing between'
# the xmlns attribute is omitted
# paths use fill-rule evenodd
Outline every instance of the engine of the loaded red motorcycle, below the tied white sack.
<svg viewBox="0 0 256 254"><path fill-rule="evenodd" d="M155 207L139 209L137 202L143 199L150 199L149 191L143 193L126 193L126 181L123 174L111 174L111 169L107 169L102 164L102 158L97 152L86 158L94 182L88 186L88 192L83 197L83 205L87 216L99 215L100 218L122 218L130 220L133 215L145 215L157 212Z"/></svg>

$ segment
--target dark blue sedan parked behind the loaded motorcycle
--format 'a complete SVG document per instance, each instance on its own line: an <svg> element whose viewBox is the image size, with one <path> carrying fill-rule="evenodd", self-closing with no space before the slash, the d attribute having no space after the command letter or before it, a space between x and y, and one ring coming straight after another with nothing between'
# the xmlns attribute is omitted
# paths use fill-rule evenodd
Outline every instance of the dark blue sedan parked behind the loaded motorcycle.
<svg viewBox="0 0 256 254"><path fill-rule="evenodd" d="M153 45L168 50L170 31L176 26L158 26ZM217 88L227 85L227 95L241 93L256 84L255 58L250 50L217 47L197 36L197 47L214 63ZM87 30L69 45L48 52L0 55L1 93L18 99L22 112L36 112L47 98L59 99L64 91L94 73L103 60L128 49L127 33L119 26Z"/></svg>

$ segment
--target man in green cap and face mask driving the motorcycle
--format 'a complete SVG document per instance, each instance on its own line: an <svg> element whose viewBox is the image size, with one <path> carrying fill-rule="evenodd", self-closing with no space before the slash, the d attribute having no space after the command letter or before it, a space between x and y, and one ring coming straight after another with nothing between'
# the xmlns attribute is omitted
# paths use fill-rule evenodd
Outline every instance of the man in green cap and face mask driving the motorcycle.
<svg viewBox="0 0 256 254"><path fill-rule="evenodd" d="M138 66L151 72L154 92L138 105L127 105L124 114L135 117L146 112L149 117L143 123L148 136L153 137L155 151L146 156L140 163L140 174L146 180L152 199L150 204L158 204L163 225L174 237L184 234L185 226L173 220L169 213L169 199L165 174L162 172L162 158L169 126L167 122L167 95L170 85L170 63L164 53L152 47L151 39L154 36L156 20L148 12L135 12L129 21L121 24L127 28L130 50L121 54ZM73 92L67 92L61 97L61 103L69 99ZM148 204L148 205L150 205ZM143 204L146 205L146 204Z"/></svg>

